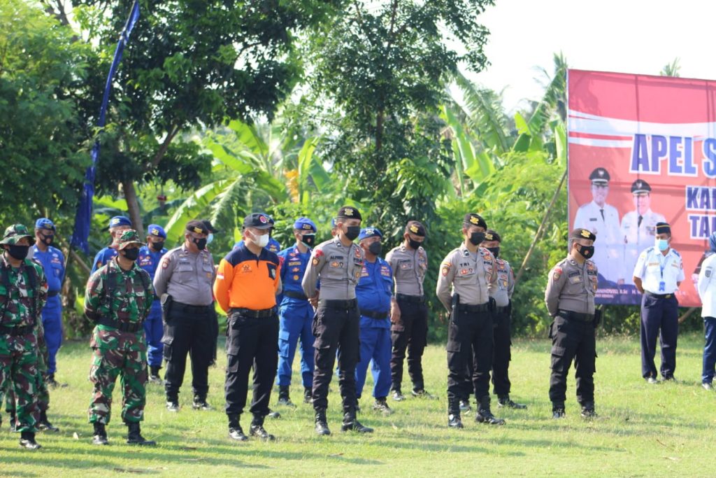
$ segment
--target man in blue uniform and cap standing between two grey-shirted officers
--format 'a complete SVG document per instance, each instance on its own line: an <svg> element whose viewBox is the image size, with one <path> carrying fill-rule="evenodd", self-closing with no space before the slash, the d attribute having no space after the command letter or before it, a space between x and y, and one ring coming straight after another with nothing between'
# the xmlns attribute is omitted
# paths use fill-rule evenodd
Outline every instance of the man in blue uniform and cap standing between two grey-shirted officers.
<svg viewBox="0 0 716 478"><path fill-rule="evenodd" d="M360 311L360 361L356 365L356 395L360 398L372 360L373 409L391 414L385 401L390 393L390 309L395 302L392 295L393 269L381 259L383 234L377 227L361 229L358 236L360 247L365 252L361 277L356 286L356 297Z"/></svg>

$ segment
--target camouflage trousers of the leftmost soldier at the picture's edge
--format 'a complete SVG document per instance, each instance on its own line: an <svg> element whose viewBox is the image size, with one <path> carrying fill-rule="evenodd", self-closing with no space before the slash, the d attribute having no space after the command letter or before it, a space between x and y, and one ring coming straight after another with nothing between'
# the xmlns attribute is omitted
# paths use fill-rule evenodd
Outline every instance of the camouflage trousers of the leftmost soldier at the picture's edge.
<svg viewBox="0 0 716 478"><path fill-rule="evenodd" d="M40 418L37 404L37 338L26 335L0 335L0 391L11 387L17 400L18 431L37 431ZM2 398L0 397L0 403Z"/></svg>

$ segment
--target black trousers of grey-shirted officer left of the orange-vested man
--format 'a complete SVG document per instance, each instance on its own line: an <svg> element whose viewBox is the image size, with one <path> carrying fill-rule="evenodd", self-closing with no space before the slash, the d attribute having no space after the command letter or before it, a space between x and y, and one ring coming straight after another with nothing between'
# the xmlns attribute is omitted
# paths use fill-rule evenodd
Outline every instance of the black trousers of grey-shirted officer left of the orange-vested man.
<svg viewBox="0 0 716 478"><path fill-rule="evenodd" d="M209 391L209 364L216 347L213 323L216 311L213 305L195 307L173 302L164 323L164 375L165 392L169 401L177 401L184 381L186 355L191 357L192 388L194 395L206 398Z"/></svg>

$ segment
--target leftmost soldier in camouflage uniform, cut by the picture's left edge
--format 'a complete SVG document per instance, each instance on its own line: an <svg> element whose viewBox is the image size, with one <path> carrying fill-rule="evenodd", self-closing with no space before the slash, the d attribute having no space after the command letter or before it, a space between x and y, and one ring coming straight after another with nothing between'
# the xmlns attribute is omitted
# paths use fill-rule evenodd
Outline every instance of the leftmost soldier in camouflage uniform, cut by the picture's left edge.
<svg viewBox="0 0 716 478"><path fill-rule="evenodd" d="M35 241L22 224L5 229L0 247L0 390L11 382L17 398L20 446L39 449L37 405L37 317L47 300L42 266L26 259Z"/></svg>

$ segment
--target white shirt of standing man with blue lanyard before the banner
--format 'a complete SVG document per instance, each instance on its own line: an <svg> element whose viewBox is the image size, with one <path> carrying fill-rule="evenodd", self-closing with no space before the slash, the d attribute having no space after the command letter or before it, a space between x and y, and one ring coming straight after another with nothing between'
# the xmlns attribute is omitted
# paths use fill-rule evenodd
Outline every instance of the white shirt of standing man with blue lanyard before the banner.
<svg viewBox="0 0 716 478"><path fill-rule="evenodd" d="M656 247L649 247L639 254L634 277L642 279L642 287L652 294L673 294L679 289L677 282L684 280L684 264L681 254L669 249L664 256ZM660 287L663 283L664 287Z"/></svg>

